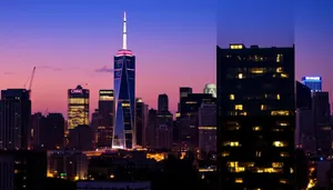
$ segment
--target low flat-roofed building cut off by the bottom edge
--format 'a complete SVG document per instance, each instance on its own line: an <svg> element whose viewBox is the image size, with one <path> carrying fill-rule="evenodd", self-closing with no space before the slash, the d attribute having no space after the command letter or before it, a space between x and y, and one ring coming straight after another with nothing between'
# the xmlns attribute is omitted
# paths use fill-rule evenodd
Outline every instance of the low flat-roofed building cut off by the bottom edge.
<svg viewBox="0 0 333 190"><path fill-rule="evenodd" d="M119 190L151 190L151 182L130 181L78 181L77 190L119 189Z"/></svg>

